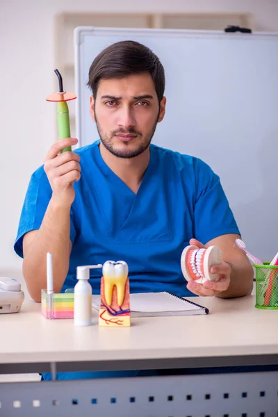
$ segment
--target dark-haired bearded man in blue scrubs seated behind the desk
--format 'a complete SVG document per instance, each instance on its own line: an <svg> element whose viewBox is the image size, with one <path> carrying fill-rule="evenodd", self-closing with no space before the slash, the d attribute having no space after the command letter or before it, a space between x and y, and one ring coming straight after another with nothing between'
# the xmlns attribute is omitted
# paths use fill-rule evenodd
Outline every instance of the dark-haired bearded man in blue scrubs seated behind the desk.
<svg viewBox="0 0 278 417"><path fill-rule="evenodd" d="M33 300L46 288L46 254L54 264L54 291L73 288L76 267L124 260L131 293L241 297L252 291L252 267L220 178L204 161L152 145L165 117L165 74L158 57L133 41L112 44L93 61L88 76L90 114L99 138L60 153L76 138L58 140L28 185L15 252ZM184 97L186 100L186 97ZM202 120L200 120L202 122ZM174 123L174 120L173 120ZM186 141L183 132L180 140ZM169 143L171 138L169 138ZM204 286L181 273L184 247L218 245L224 261L218 280ZM99 293L101 270L90 272ZM147 371L146 371L147 373ZM122 373L58 373L57 379ZM43 374L42 379L51 379Z"/></svg>

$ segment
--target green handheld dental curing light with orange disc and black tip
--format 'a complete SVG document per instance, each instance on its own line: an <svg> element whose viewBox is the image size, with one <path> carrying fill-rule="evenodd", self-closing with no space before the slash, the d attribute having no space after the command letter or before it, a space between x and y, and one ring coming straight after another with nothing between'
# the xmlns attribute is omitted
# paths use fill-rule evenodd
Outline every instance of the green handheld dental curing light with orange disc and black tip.
<svg viewBox="0 0 278 417"><path fill-rule="evenodd" d="M56 101L57 103L57 119L58 119L58 134L59 139L70 138L70 116L67 101L76 99L74 92L63 91L63 79L58 72L54 70L58 76L59 91L47 96L47 101ZM71 151L72 147L68 146L61 150L61 152Z"/></svg>

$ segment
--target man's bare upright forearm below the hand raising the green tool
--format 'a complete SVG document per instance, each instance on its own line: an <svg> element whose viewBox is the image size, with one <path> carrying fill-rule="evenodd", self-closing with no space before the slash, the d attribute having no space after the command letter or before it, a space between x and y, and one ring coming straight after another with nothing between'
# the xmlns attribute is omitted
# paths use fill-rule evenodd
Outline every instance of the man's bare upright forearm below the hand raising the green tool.
<svg viewBox="0 0 278 417"><path fill-rule="evenodd" d="M24 246L23 275L33 300L40 302L41 290L47 288L47 252L52 254L54 292L60 292L69 268L71 247L70 207L50 200L40 229L30 245Z"/></svg>

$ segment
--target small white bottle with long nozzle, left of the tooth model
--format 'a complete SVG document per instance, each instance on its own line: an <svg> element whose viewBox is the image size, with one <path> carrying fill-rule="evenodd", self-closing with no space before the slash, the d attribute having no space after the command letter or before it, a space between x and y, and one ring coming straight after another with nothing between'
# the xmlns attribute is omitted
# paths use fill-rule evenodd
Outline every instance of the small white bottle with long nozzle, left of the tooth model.
<svg viewBox="0 0 278 417"><path fill-rule="evenodd" d="M74 286L74 325L92 325L92 287L88 279L90 269L101 268L102 265L78 266L76 268L77 284Z"/></svg>

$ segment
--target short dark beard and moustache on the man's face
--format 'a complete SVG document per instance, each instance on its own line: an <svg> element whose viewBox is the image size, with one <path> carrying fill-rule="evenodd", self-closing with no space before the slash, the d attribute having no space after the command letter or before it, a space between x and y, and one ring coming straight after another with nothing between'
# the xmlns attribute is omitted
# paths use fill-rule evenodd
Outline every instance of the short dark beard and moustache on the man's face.
<svg viewBox="0 0 278 417"><path fill-rule="evenodd" d="M111 152L114 156L117 156L117 158L135 158L136 156L142 154L145 152L145 150L149 147L149 145L152 142L152 137L154 136L154 132L156 131L156 125L158 122L159 112L158 116L156 117L156 122L153 124L152 129L150 129L149 132L145 134L145 136L142 135L140 131L136 131L133 127L129 129L117 129L115 131L112 131L109 135L105 134L103 129L101 128L99 122L97 121L97 115L95 114L95 122L97 125L97 131L99 133L99 138L101 140L101 143L104 145L104 147ZM117 149L113 145L113 137L115 135L118 135L119 133L125 133L125 134L133 134L136 135L138 138L140 138L140 143L138 144L138 147L136 149L129 149L129 142L122 142L124 145L126 145L126 149ZM132 140L131 140L132 142Z"/></svg>

